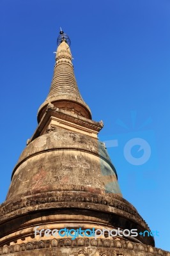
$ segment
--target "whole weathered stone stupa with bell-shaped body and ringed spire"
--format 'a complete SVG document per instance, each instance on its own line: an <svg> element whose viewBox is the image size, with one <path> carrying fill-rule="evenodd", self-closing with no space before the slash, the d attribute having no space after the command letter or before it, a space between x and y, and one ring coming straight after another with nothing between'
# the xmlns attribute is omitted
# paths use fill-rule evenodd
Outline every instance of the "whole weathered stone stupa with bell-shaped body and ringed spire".
<svg viewBox="0 0 170 256"><path fill-rule="evenodd" d="M139 235L150 228L121 196L97 138L102 127L91 120L73 72L70 39L60 31L49 95L0 206L0 255L170 256L153 247L152 236Z"/></svg>

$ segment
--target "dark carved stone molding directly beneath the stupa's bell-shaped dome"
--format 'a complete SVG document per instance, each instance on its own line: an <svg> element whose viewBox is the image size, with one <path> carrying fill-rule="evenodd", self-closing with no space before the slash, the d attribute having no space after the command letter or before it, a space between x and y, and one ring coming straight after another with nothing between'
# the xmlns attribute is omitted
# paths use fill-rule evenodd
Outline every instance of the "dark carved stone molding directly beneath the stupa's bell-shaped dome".
<svg viewBox="0 0 170 256"><path fill-rule="evenodd" d="M74 188L75 189L75 188ZM85 188L79 188L81 191L84 191ZM78 189L78 190L79 190ZM46 194L46 196L45 196ZM83 195L84 194L84 195ZM27 196L27 198L22 198L20 200L13 200L12 202L8 202L8 204L1 204L0 206L0 216L4 216L5 214L9 214L10 212L17 211L19 209L23 209L25 207L29 207L31 205L40 205L45 203L53 203L53 202L88 202L92 204L102 204L102 205L109 205L121 211L127 212L130 216L134 216L139 220L143 220L141 216L135 211L134 208L130 207L130 204L127 205L122 200L118 200L118 196L102 196L102 195L88 195L88 193L82 193L77 195L76 192L67 191L67 194L63 194L62 191L51 191L48 193L43 193L42 195L31 195ZM18 213L17 213L18 214ZM14 214L15 215L15 214Z"/></svg>

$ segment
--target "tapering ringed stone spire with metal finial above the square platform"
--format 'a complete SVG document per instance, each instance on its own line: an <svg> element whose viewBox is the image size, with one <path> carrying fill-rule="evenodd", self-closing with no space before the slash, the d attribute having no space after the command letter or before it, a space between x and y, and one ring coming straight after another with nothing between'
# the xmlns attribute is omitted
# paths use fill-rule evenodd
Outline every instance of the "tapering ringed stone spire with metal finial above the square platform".
<svg viewBox="0 0 170 256"><path fill-rule="evenodd" d="M47 99L38 110L38 122L40 122L49 103L54 104L57 108L65 109L68 113L72 112L91 119L91 111L81 97L73 72L70 44L70 38L61 30L58 36L56 63L50 91Z"/></svg>

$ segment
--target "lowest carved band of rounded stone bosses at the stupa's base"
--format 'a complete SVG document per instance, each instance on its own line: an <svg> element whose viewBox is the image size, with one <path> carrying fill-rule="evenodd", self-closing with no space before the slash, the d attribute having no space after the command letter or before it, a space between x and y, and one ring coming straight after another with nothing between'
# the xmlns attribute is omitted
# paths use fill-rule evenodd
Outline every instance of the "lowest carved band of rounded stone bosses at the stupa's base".
<svg viewBox="0 0 170 256"><path fill-rule="evenodd" d="M52 239L52 240L42 240L33 241L29 243L15 244L12 246L3 246L0 248L0 255L6 254L17 254L17 252L24 251L34 251L48 248L73 248L73 252L77 252L73 255L95 255L95 256L126 256L126 255L162 255L169 256L169 252L160 250L159 248L154 248L152 246L143 246L143 254L141 254L141 244L131 243L132 246L128 246L127 241L116 241L110 239L97 239L97 244L94 247L94 239L88 238L76 238L72 240L71 238L63 239ZM107 242L107 243L106 243ZM81 248L80 248L81 247ZM130 254L128 254L128 252ZM139 253L139 254L138 254ZM149 253L149 254L148 254ZM37 254L38 255L38 254Z"/></svg>

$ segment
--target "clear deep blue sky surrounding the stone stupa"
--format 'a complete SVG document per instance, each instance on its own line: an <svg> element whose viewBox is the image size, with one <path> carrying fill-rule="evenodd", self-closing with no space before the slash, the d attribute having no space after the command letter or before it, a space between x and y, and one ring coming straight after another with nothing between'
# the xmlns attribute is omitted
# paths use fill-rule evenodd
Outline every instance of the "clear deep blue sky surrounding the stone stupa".
<svg viewBox="0 0 170 256"><path fill-rule="evenodd" d="M110 141L123 196L160 232L156 246L170 251L169 0L0 1L0 202L49 92L60 26L82 97L93 120L104 121L99 137ZM146 163L129 161L125 145L135 138L149 145ZM149 154L132 146L137 161Z"/></svg>

